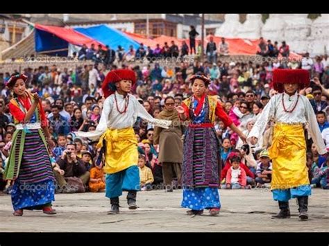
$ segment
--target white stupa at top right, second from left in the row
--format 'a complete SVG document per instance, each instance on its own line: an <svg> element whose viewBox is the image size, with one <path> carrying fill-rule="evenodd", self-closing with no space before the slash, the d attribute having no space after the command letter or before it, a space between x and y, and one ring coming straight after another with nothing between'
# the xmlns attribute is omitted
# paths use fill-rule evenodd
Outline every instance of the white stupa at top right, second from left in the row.
<svg viewBox="0 0 329 246"><path fill-rule="evenodd" d="M263 25L261 14L248 14L242 28L239 29L238 37L259 39Z"/></svg>

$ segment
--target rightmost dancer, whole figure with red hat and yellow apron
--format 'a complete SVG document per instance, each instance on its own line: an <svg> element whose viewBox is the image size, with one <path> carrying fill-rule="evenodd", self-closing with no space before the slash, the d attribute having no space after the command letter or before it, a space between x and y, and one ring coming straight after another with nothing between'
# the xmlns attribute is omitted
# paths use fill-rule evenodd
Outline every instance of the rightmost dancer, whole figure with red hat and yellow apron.
<svg viewBox="0 0 329 246"><path fill-rule="evenodd" d="M263 134L270 118L276 125L269 148L272 159L271 191L280 212L272 218L289 218L289 199L297 198L299 218L307 220L308 196L311 195L306 167L304 128L312 137L320 155L326 154L316 116L310 101L298 89L310 85L310 74L303 69L276 69L273 86L279 94L273 96L248 134L247 141L255 144Z"/></svg>

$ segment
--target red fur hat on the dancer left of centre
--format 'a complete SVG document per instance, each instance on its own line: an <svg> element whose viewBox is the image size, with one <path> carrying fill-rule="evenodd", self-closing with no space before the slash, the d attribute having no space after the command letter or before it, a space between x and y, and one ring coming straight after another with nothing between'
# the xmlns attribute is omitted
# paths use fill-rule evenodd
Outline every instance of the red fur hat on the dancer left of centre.
<svg viewBox="0 0 329 246"><path fill-rule="evenodd" d="M115 83L121 80L131 80L133 85L136 82L135 72L129 69L117 69L110 71L105 80L103 81L103 85L101 89L103 90L104 97L107 98L111 94L115 92Z"/></svg>

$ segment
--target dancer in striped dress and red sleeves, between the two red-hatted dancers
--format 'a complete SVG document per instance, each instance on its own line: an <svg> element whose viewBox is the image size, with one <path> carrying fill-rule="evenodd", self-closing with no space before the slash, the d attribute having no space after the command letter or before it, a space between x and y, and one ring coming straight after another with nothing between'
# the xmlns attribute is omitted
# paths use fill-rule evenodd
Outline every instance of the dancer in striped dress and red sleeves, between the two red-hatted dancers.
<svg viewBox="0 0 329 246"><path fill-rule="evenodd" d="M216 216L221 207L218 187L220 154L219 141L214 130L215 117L219 117L244 141L246 137L223 111L217 98L205 91L210 79L196 74L190 79L193 96L183 101L176 110L183 121L189 120L183 148L183 202L188 215L202 214L210 209Z"/></svg>

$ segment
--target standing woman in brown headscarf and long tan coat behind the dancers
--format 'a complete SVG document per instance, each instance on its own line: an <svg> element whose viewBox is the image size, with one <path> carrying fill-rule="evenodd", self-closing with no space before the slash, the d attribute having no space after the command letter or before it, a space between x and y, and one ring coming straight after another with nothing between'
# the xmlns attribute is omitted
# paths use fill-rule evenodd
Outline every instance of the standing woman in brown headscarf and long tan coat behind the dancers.
<svg viewBox="0 0 329 246"><path fill-rule="evenodd" d="M159 119L172 121L169 129L159 127L154 128L153 143L159 144L158 161L162 164L162 173L166 185L166 190L171 192L174 174L178 179L178 185L181 184L183 161L183 126L176 112L175 100L171 96L165 99L165 109L158 114Z"/></svg>

